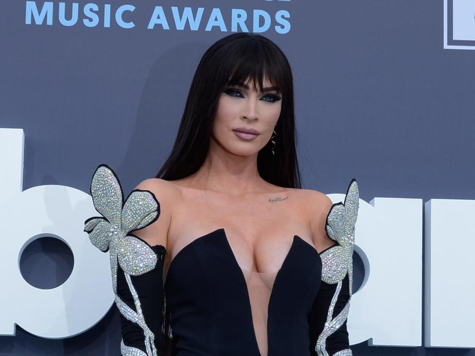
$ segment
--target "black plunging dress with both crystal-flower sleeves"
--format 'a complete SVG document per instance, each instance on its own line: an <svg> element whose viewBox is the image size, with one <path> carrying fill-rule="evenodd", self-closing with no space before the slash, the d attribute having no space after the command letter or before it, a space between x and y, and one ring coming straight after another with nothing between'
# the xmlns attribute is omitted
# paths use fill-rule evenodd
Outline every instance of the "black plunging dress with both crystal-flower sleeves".
<svg viewBox="0 0 475 356"><path fill-rule="evenodd" d="M250 274L239 267L223 227L179 251L163 286L165 247L131 233L158 219L153 193L135 189L124 202L117 176L100 165L91 195L102 217L86 220L84 230L110 253L123 356L261 356L262 337L268 356L351 355L346 319L359 201L355 179L345 203L333 204L327 216L335 244L319 254L294 235L279 271L263 276L270 281L265 311L254 304L262 293L251 293ZM253 322L258 312L267 316L260 343Z"/></svg>

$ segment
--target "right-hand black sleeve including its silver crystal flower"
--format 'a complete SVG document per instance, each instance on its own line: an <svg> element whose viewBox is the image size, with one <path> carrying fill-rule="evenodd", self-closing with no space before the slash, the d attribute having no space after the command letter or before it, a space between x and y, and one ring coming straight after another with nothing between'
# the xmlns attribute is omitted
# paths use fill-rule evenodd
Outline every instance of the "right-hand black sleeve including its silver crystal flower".
<svg viewBox="0 0 475 356"><path fill-rule="evenodd" d="M308 315L310 355L351 356L347 317L353 294L353 250L359 190L352 179L345 202L332 205L325 231L337 244L322 251L319 292Z"/></svg>

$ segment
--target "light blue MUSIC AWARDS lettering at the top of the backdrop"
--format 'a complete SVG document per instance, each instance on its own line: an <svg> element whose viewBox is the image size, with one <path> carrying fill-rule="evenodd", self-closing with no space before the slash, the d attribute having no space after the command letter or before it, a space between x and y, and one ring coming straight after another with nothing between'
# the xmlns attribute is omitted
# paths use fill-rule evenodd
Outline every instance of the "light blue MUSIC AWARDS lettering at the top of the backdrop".
<svg viewBox="0 0 475 356"><path fill-rule="evenodd" d="M290 31L290 13L285 9L275 9L275 4L288 4L290 0L266 0L261 4L271 9L233 8L222 13L219 7L177 7L143 6L147 18L139 17L136 6L123 4L120 6L108 3L89 2L80 5L78 2L65 3L56 1L26 1L26 25L62 25L109 28L118 26L123 29L144 28L147 30L190 30L211 31L214 28L221 32L254 32L275 31L286 34ZM191 1L192 2L192 1ZM137 9L138 10L138 9ZM141 9L142 10L142 9ZM226 21L225 21L226 18Z"/></svg>

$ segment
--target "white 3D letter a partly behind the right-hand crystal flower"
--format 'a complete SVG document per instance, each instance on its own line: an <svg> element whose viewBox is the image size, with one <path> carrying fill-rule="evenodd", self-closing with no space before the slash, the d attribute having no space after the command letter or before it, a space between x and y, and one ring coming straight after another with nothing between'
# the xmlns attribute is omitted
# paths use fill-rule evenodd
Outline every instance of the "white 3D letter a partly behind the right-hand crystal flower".
<svg viewBox="0 0 475 356"><path fill-rule="evenodd" d="M334 203L344 194L330 194ZM350 344L421 346L422 200L360 199L355 251L365 278L351 299Z"/></svg>

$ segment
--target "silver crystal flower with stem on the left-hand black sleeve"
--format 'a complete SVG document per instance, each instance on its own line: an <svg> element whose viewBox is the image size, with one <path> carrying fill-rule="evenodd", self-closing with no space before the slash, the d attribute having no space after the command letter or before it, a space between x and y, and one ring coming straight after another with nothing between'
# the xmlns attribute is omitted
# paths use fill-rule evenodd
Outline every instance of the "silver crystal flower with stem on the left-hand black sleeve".
<svg viewBox="0 0 475 356"><path fill-rule="evenodd" d="M134 189L124 202L119 179L105 164L99 165L95 170L91 182L91 195L95 209L102 216L86 220L84 231L88 232L89 239L95 247L102 252L109 251L115 304L128 320L141 326L145 338L146 354L139 349L126 346L123 340L121 353L123 356L157 356L155 336L145 323L140 300L130 276L152 270L158 259L150 245L137 236L129 235L129 232L143 228L158 219L160 204L153 193L140 189ZM117 263L124 270L137 312L117 296Z"/></svg>

